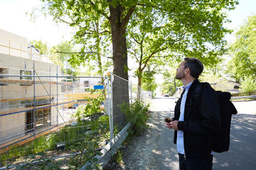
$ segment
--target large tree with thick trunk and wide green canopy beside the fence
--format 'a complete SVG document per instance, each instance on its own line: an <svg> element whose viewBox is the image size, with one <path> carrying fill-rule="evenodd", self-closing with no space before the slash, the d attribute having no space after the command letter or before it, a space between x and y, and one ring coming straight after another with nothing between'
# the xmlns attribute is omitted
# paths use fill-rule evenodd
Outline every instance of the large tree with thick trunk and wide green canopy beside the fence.
<svg viewBox="0 0 256 170"><path fill-rule="evenodd" d="M226 42L223 37L225 33L230 32L223 27L223 23L227 22L223 11L232 10L234 4L237 4L237 0L42 1L45 3L46 13L52 15L54 20L74 27L76 35L95 35L95 31L91 32L92 23L99 22L99 30L111 37L113 73L126 80L127 36L138 28L143 31L141 35L145 34L148 40L148 57L170 46L168 50L174 54L200 57L203 62L211 60L211 65L218 63L218 56L225 52ZM92 38L92 41L97 41L97 37ZM145 61L147 62L147 59ZM113 84L114 88L128 87L127 83L117 78ZM128 88L124 89L126 90L113 89L114 96L123 96L114 99L114 105L129 101Z"/></svg>

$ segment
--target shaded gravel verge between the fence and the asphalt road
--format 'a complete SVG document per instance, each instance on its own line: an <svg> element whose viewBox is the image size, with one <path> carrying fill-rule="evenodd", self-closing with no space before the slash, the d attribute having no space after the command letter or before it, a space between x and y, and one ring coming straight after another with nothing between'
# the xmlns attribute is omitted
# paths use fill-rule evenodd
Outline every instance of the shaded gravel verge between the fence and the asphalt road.
<svg viewBox="0 0 256 170"><path fill-rule="evenodd" d="M140 136L133 136L128 145L122 146L123 163L109 162L104 169L157 169L154 152L156 152L159 132L153 124L157 113L150 111L150 116L147 122L149 127Z"/></svg>

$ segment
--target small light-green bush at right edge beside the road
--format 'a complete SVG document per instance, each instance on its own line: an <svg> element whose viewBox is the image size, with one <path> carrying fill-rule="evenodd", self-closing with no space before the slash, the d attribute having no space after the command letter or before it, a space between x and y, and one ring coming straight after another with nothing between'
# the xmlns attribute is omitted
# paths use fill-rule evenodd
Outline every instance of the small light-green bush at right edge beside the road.
<svg viewBox="0 0 256 170"><path fill-rule="evenodd" d="M244 76L244 80L241 82L241 91L251 95L256 90L256 80L253 76Z"/></svg>

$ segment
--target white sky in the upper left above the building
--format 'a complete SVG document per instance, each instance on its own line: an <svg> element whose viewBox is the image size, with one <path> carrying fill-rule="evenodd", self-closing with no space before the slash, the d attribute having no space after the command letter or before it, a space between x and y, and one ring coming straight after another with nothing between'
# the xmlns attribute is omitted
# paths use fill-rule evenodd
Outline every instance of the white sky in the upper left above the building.
<svg viewBox="0 0 256 170"><path fill-rule="evenodd" d="M40 15L36 22L31 22L30 12L33 7L40 7L38 0L0 0L0 29L12 32L29 40L39 40L54 46L70 39L72 29L64 24L56 24L51 17Z"/></svg>

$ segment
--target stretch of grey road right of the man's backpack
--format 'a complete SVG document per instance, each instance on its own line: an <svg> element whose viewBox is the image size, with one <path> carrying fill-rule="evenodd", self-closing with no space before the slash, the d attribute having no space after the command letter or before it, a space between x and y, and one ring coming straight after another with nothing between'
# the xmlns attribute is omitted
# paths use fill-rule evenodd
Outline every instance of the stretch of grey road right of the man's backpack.
<svg viewBox="0 0 256 170"><path fill-rule="evenodd" d="M230 148L214 154L213 169L256 169L256 101L234 102L238 114L232 116Z"/></svg>

